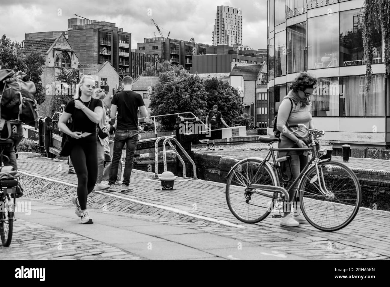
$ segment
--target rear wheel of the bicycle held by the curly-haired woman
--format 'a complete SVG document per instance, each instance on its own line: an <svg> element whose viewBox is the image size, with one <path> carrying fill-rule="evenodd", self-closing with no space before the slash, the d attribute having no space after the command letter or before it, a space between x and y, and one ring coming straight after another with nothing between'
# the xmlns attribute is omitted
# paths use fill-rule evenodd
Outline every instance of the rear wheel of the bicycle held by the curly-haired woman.
<svg viewBox="0 0 390 287"><path fill-rule="evenodd" d="M226 182L226 201L238 220L256 223L266 218L273 209L274 193L249 186L263 184L277 186L268 166L260 160L246 159L233 168Z"/></svg>

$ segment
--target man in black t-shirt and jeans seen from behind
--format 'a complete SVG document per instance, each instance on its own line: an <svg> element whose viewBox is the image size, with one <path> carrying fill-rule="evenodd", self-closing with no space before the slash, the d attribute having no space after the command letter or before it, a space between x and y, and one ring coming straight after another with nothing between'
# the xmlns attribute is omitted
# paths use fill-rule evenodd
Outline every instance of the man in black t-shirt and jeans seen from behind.
<svg viewBox="0 0 390 287"><path fill-rule="evenodd" d="M124 166L122 192L132 191L129 186L130 175L133 168L134 152L138 143L138 108L142 116L147 117L148 113L142 96L131 89L133 78L126 76L122 80L123 91L117 92L111 101L111 119L115 120L118 112L117 128L114 139L114 151L110 169L110 179L107 191L115 191L115 181L118 175L118 165L122 157L122 149L126 144L126 163Z"/></svg>

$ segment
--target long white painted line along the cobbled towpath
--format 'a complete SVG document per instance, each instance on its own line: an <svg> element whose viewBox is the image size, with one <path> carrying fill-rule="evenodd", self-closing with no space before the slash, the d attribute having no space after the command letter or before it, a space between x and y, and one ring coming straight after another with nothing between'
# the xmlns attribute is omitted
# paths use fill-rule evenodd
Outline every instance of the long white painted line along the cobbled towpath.
<svg viewBox="0 0 390 287"><path fill-rule="evenodd" d="M20 172L21 174L28 175L28 176L41 178L41 179L44 179L44 180L47 180L47 181L52 181L52 182L57 182L57 183L60 183L60 184L65 184L67 186L77 187L77 185L75 185L75 184L71 184L71 183L64 182L64 181L57 181L57 180L51 179L49 177L43 177L43 176L40 176L40 175L28 174L27 172L23 172L21 170L18 170L18 172ZM169 206L163 206L163 205L159 205L159 204L152 204L152 203L148 203L148 202L143 202L141 200L121 197L119 195L114 195L112 193L107 193L107 192L101 192L101 191L95 191L95 192L96 193L100 193L100 194L104 194L104 195L107 195L107 196L111 196L111 197L121 198L121 199L124 199L124 200L128 200L128 201L135 202L135 203L142 204L142 205L146 205L146 206L152 206L152 207L157 207L157 208L160 208L160 209L165 209L165 210L168 210L168 211L172 211L174 213L184 214L184 215L191 216L191 217L194 217L194 218L199 218L199 219L202 219L202 220L215 222L215 223L219 223L219 224L230 226L230 227L237 227L237 228L242 228L242 229L246 228L243 225L237 225L237 224L231 223L231 222L226 221L226 220L216 220L216 219L211 218L211 217L206 217L206 216L201 216L201 215L197 215L197 214L192 214L192 213L189 213L187 211L184 211L184 210L181 210L181 209L177 209L177 208L173 208L173 207L169 207Z"/></svg>

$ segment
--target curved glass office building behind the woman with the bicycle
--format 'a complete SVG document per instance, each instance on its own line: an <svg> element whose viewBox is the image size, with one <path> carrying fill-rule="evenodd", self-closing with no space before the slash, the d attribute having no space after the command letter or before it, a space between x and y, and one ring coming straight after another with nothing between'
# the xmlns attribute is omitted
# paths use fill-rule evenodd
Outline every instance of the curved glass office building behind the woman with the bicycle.
<svg viewBox="0 0 390 287"><path fill-rule="evenodd" d="M390 145L390 79L383 39L373 35L372 83L365 92L363 0L268 0L268 113L275 113L296 73L318 79L312 100L316 128L341 144Z"/></svg>

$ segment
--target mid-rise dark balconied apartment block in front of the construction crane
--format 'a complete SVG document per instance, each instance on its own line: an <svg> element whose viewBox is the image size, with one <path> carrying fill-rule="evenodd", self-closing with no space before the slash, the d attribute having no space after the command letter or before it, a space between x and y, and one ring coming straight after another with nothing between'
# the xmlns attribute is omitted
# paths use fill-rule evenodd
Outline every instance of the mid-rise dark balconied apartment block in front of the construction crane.
<svg viewBox="0 0 390 287"><path fill-rule="evenodd" d="M182 65L190 71L195 55L205 55L210 45L163 37L145 38L138 43L137 51L148 55L156 55L163 61L172 61L173 65Z"/></svg>

